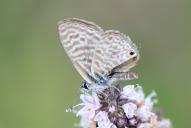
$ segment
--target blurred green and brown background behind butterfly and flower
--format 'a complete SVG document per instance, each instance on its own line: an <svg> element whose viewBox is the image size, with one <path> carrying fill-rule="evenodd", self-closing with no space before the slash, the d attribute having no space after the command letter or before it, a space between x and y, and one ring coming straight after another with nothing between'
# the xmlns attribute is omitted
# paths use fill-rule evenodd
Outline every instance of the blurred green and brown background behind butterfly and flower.
<svg viewBox="0 0 191 128"><path fill-rule="evenodd" d="M139 46L134 68L175 128L190 127L190 2L186 0L0 0L0 128L72 128L82 81L58 39L68 17L118 29Z"/></svg>

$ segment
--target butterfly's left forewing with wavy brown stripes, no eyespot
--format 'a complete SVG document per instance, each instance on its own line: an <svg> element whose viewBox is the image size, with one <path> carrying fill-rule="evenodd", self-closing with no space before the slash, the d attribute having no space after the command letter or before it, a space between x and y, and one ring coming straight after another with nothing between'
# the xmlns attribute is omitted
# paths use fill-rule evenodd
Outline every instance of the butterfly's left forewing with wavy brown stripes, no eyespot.
<svg viewBox="0 0 191 128"><path fill-rule="evenodd" d="M58 30L60 41L74 67L88 83L92 83L92 58L103 30L92 22L76 18L60 21Z"/></svg>

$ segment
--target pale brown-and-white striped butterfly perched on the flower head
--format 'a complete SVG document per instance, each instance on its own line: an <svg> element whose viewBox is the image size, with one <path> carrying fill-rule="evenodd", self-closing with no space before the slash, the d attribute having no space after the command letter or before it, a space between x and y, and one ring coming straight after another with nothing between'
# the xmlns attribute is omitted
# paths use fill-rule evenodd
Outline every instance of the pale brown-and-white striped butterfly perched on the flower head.
<svg viewBox="0 0 191 128"><path fill-rule="evenodd" d="M58 31L65 52L85 80L84 88L138 77L130 71L139 60L139 51L130 37L77 18L59 21Z"/></svg>

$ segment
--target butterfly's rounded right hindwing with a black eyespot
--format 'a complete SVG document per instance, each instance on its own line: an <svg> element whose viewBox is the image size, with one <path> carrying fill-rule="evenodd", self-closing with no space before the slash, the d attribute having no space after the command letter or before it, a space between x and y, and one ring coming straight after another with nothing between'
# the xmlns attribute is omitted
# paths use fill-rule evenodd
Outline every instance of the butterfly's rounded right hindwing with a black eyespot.
<svg viewBox="0 0 191 128"><path fill-rule="evenodd" d="M137 47L129 37L119 31L108 30L103 33L102 41L96 47L91 71L94 77L105 78L113 75L117 78L119 75L116 73L128 72L135 66L138 58Z"/></svg>

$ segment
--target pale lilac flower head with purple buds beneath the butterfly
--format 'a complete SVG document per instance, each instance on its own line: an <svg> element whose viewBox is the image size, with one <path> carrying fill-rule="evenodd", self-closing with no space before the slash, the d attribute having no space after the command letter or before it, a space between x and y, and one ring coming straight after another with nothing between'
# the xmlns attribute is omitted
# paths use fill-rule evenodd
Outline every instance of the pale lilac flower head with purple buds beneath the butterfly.
<svg viewBox="0 0 191 128"><path fill-rule="evenodd" d="M154 91L145 96L139 85L109 86L82 93L82 107L75 112L80 117L78 126L89 128L94 122L94 128L172 128L170 121L154 110L155 96Z"/></svg>

